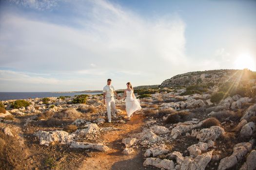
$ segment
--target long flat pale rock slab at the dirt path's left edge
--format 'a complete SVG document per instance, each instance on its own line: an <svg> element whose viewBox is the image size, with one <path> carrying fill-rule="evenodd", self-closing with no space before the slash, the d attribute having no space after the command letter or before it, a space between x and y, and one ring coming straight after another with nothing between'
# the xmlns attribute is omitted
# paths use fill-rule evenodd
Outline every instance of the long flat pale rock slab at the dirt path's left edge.
<svg viewBox="0 0 256 170"><path fill-rule="evenodd" d="M101 143L72 142L70 148L96 149L98 151L109 151L109 148Z"/></svg>

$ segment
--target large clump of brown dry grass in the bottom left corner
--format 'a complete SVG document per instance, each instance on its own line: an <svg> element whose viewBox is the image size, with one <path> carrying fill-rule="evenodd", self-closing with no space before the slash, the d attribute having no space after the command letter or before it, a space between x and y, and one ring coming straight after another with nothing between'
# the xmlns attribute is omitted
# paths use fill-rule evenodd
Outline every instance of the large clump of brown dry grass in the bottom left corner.
<svg viewBox="0 0 256 170"><path fill-rule="evenodd" d="M24 167L26 154L20 141L12 136L6 136L0 131L0 169L1 170L21 170Z"/></svg>

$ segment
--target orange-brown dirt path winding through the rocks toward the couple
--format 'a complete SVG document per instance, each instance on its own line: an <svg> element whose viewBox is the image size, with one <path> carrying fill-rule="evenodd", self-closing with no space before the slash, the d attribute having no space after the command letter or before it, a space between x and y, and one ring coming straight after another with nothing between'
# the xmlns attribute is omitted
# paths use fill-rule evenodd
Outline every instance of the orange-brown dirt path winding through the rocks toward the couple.
<svg viewBox="0 0 256 170"><path fill-rule="evenodd" d="M124 145L121 144L123 138L130 134L141 132L143 117L135 115L130 121L120 126L119 131L110 131L103 135L103 141L111 149L109 152L92 153L91 157L84 160L80 170L144 170L143 153L139 149L130 155L122 154ZM147 170L156 170L147 168Z"/></svg>

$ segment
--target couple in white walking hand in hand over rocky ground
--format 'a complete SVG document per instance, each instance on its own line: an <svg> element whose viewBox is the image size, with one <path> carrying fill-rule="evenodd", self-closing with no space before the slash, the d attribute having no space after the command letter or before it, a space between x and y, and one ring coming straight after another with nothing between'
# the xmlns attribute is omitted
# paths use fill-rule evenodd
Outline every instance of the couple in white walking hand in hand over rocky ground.
<svg viewBox="0 0 256 170"><path fill-rule="evenodd" d="M140 104L139 101L136 99L136 96L134 95L134 90L130 82L126 83L127 88L124 90L123 97L120 98L115 91L113 85L111 85L111 79L107 80L107 85L103 87L103 100L104 104L107 106L107 113L108 113L108 122L111 122L111 112L114 118L116 118L116 102L114 95L117 96L117 99L125 99L125 110L127 113L128 120L131 119L132 114L140 110Z"/></svg>

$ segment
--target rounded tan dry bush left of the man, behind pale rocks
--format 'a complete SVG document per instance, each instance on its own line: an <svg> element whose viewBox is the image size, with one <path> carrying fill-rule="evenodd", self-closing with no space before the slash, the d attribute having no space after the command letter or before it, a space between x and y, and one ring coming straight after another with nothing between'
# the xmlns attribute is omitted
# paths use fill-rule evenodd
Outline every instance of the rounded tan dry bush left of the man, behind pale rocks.
<svg viewBox="0 0 256 170"><path fill-rule="evenodd" d="M64 109L61 112L55 113L53 118L57 119L78 119L82 114L74 108Z"/></svg>

